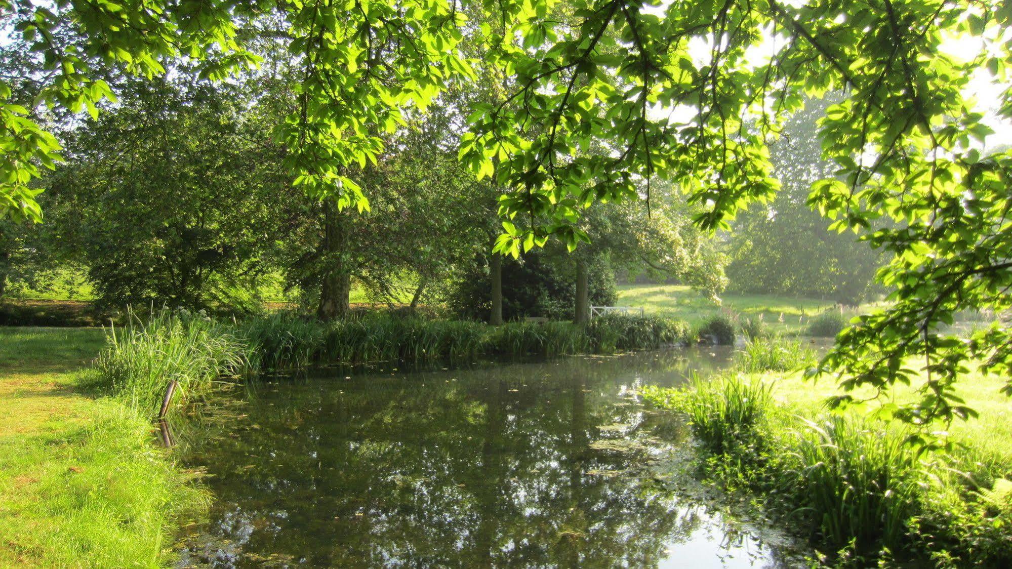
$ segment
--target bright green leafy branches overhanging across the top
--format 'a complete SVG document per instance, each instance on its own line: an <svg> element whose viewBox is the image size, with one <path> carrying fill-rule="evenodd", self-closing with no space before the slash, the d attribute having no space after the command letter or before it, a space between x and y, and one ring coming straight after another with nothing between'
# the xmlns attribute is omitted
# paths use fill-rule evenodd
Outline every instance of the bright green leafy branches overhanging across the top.
<svg viewBox="0 0 1012 569"><path fill-rule="evenodd" d="M513 254L551 237L575 248L586 207L649 208L655 179L687 192L700 227L728 227L776 191L767 144L784 118L834 91L819 134L837 169L810 202L837 229L870 232L894 259L878 277L895 292L840 336L826 371L884 388L920 358L923 398L898 409L915 422L967 413L951 391L966 360L1012 372L1007 328L961 341L939 327L966 308L1010 308L1012 154L981 148L1012 95L991 117L972 97L975 78L1006 80L1008 2L13 0L0 13L37 69L35 106L0 84L0 215L22 220L43 215L32 179L59 159L54 116L97 114L113 99L108 70L250 69L239 30L257 18L283 22L272 40L299 68L298 104L276 130L292 183L342 209L368 208L353 167L376 161L406 113L474 81L459 47L481 46L501 96L472 109L459 157L507 189L502 216L529 219L498 242Z"/></svg>

